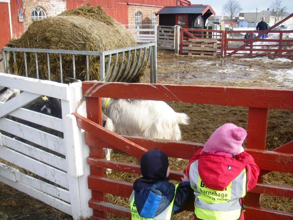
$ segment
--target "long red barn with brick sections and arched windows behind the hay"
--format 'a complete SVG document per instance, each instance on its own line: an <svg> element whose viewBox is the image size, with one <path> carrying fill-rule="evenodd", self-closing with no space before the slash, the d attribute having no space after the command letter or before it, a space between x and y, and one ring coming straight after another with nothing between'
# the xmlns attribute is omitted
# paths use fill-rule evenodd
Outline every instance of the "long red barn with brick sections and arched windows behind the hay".
<svg viewBox="0 0 293 220"><path fill-rule="evenodd" d="M35 20L56 16L81 5L101 6L125 25L158 24L155 12L164 6L189 6L188 0L0 0L0 49L11 38L19 38Z"/></svg>

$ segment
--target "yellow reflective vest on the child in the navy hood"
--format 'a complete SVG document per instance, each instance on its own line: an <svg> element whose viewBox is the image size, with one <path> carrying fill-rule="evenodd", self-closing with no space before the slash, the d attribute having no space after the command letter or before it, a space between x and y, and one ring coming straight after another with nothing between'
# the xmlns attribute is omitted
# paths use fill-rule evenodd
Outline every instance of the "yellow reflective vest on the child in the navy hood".
<svg viewBox="0 0 293 220"><path fill-rule="evenodd" d="M134 202L135 191L133 190L132 194L130 195L130 198L129 198L131 220L171 220L171 219L173 219L172 218L173 204L174 204L174 199L175 199L177 187L178 187L178 184L175 185L174 198L173 198L172 202L170 203L170 205L164 211L162 211L159 215L155 216L153 219L148 219L148 218L144 218L144 217L139 216L139 213L136 209L135 202Z"/></svg>

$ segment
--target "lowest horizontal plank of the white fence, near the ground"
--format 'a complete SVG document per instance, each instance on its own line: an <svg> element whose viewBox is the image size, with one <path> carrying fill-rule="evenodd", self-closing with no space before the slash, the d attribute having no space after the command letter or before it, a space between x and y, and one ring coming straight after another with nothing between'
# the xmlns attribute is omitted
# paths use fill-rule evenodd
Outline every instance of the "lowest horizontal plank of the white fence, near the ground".
<svg viewBox="0 0 293 220"><path fill-rule="evenodd" d="M28 194L31 197L34 197L42 202L45 202L46 204L63 211L69 215L71 215L71 206L67 202L64 202L60 199L57 199L53 196L50 196L49 194L46 194L44 192L41 192L38 189L35 189L29 185L25 185L21 182L13 182L11 180L6 179L5 177L0 176L0 182L3 182L21 192L24 192Z"/></svg>

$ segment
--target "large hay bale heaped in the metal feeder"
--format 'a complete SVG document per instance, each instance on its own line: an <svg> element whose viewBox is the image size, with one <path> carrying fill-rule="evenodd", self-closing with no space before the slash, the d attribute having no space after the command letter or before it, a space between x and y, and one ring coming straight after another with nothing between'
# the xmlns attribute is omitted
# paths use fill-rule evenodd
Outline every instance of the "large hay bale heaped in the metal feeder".
<svg viewBox="0 0 293 220"><path fill-rule="evenodd" d="M100 6L90 5L34 21L21 38L8 43L8 46L15 48L86 51L105 51L134 45L137 43L125 27L108 16ZM121 57L118 66L119 60ZM13 74L25 75L23 53L16 53L16 62L11 55L8 68ZM36 77L35 53L27 53L27 68L28 76ZM85 55L75 56L75 68L76 78L86 80ZM38 70L40 79L48 79L47 54L38 53ZM63 77L73 77L72 55L62 55L62 73ZM51 80L60 80L58 54L50 54L50 76ZM89 76L90 80L100 78L99 56L89 56Z"/></svg>

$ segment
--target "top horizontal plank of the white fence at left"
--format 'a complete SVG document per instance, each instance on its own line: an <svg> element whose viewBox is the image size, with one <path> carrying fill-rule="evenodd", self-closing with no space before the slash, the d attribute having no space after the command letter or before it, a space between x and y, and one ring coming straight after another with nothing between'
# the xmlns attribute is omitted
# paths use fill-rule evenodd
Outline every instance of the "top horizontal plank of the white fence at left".
<svg viewBox="0 0 293 220"><path fill-rule="evenodd" d="M69 86L67 84L5 74L1 72L0 82L1 86L4 87L46 95L57 99L69 100Z"/></svg>

